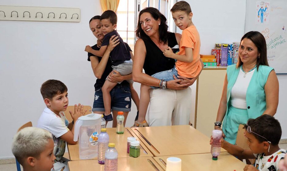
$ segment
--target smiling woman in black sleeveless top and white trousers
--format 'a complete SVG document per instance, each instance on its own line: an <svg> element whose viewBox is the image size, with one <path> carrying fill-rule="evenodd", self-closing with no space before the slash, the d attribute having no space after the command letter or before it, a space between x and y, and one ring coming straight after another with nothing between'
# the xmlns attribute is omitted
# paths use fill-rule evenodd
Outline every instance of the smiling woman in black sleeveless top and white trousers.
<svg viewBox="0 0 287 171"><path fill-rule="evenodd" d="M179 44L181 35L168 32L167 28L166 18L158 9L148 7L140 11L136 29L139 39L135 45L132 70L135 82L159 87L160 80L151 75L174 67L174 59L165 57L163 51ZM143 69L145 73L142 72ZM189 79L179 76L179 79L167 82L167 89L150 90L148 124L150 126L188 124L191 110L189 86L197 77Z"/></svg>

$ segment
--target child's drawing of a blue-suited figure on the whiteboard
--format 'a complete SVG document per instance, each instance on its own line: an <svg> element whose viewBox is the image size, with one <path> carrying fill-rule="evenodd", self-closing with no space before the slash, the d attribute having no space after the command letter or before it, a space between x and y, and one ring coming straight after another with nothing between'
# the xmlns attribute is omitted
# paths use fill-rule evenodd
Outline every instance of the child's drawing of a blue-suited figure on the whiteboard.
<svg viewBox="0 0 287 171"><path fill-rule="evenodd" d="M269 2L256 1L256 24L269 22Z"/></svg>

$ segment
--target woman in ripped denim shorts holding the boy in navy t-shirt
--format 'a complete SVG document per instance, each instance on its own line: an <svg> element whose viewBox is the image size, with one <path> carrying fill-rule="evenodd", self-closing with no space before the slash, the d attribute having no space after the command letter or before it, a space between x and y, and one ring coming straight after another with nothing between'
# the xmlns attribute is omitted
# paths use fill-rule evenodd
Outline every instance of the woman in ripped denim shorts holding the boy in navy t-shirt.
<svg viewBox="0 0 287 171"><path fill-rule="evenodd" d="M101 16L94 16L90 20L90 30L93 32L94 36L101 42L104 39L104 35L101 31ZM108 77L108 80L111 82L122 82L123 80L132 79L132 74L128 74L122 76L117 71L112 71L112 63L109 59L110 52L113 50L115 46L119 44L117 37L112 36L107 50L105 51L103 57L98 57L93 55L91 49L99 50L100 48L95 44L94 46L86 46L85 51L88 53L88 61L91 62L91 66L94 72L94 75L98 78L94 85L95 87L95 98L93 104L93 112L98 114L103 114L105 112L105 107L103 103L103 93L102 86L104 85L105 79ZM133 89L134 90L134 89ZM135 90L134 90L135 91ZM124 124L126 122L128 112L131 110L131 88L128 82L123 81L121 84L117 84L112 91L111 94L111 108L113 112L113 127L117 126L117 112L124 112ZM128 99L128 100L126 100Z"/></svg>

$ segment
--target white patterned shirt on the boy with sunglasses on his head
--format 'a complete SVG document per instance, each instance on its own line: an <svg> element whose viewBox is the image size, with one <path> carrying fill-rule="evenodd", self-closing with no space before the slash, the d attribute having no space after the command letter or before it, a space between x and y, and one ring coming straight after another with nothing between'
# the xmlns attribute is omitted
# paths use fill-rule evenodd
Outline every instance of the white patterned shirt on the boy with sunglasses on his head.
<svg viewBox="0 0 287 171"><path fill-rule="evenodd" d="M270 156L265 156L264 153L254 154L256 157L254 167L259 171L278 170L279 161L284 158L286 150L280 149Z"/></svg>

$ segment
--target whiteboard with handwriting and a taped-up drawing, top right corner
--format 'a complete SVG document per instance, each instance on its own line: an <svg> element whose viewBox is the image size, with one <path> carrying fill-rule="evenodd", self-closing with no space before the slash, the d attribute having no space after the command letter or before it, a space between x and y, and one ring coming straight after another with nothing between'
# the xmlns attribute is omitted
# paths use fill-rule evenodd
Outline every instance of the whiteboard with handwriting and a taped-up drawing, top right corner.
<svg viewBox="0 0 287 171"><path fill-rule="evenodd" d="M269 66L287 73L287 1L247 0L245 33L261 32L267 45Z"/></svg>

